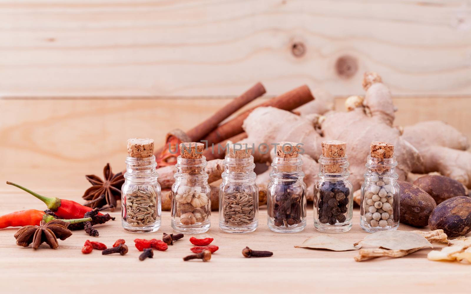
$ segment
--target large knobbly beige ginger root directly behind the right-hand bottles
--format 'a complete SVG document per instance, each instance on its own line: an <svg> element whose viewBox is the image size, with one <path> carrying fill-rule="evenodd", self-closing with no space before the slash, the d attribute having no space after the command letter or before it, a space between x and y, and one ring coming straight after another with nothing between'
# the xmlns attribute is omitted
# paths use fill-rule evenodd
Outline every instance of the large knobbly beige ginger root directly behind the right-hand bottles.
<svg viewBox="0 0 471 294"><path fill-rule="evenodd" d="M398 160L399 179L405 180L406 175L414 166L422 165L419 152L401 136L401 132L392 126L395 107L389 89L382 83L377 74L366 73L366 95L363 103L352 111L329 111L322 119L313 121L309 116L297 116L289 111L272 107L261 107L254 110L244 121L243 128L247 133L245 143L259 146L264 144L266 151L272 143L288 141L301 142L305 154L317 160L321 154L321 142L325 140L341 140L348 143L349 180L354 189L360 188L365 172L365 160L371 142L382 141L394 144L394 155ZM322 134L322 136L321 136ZM254 157L256 157L254 155ZM267 156L257 156L269 161ZM304 169L304 167L303 167ZM308 176L305 181L308 181Z"/></svg>

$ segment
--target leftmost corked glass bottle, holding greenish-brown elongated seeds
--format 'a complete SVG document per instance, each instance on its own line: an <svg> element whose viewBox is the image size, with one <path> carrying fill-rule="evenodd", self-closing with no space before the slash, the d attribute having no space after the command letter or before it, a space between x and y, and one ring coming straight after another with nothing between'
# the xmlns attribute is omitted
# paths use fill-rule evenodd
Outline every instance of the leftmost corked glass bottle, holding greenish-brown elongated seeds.
<svg viewBox="0 0 471 294"><path fill-rule="evenodd" d="M160 228L162 212L154 140L129 139L128 155L121 188L122 227L130 232L154 232Z"/></svg>

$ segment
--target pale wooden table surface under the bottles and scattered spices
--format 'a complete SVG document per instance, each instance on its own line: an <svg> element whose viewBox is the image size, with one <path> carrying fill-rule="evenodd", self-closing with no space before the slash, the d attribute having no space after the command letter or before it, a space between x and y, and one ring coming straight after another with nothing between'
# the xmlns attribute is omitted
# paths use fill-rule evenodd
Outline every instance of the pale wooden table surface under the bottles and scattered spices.
<svg viewBox="0 0 471 294"><path fill-rule="evenodd" d="M42 203L24 191L8 187L0 191L0 214L37 208ZM40 194L81 201L83 191L38 191ZM74 196L75 195L75 196ZM177 291L186 293L465 293L469 291L471 266L455 262L431 262L429 249L398 259L376 259L355 262L356 251L333 252L294 248L304 239L320 234L313 225L312 204L308 209L308 225L299 233L281 234L268 229L266 210L260 210L260 226L250 234L227 234L219 230L218 213L211 215L211 229L200 236L211 236L219 251L210 262L183 262L191 254L190 235L169 246L166 252L156 251L154 259L138 260L134 238L161 238L171 233L170 213L162 213L162 227L150 234L133 234L122 230L120 210L112 215L116 221L96 228L98 238L84 231L59 242L59 248L43 244L38 250L16 246L16 228L0 230L0 285L2 293L138 293L143 291ZM407 225L400 230L413 230ZM426 229L424 229L426 230ZM352 243L367 233L359 227L359 211L355 210L352 230L333 234ZM118 238L126 239L130 250L121 255L103 256L97 250L81 254L86 239L111 246ZM245 246L254 250L273 251L269 258L244 258ZM442 247L436 245L435 247ZM99 290L99 291L98 291ZM301 292L302 293L302 292ZM468 292L469 293L469 292Z"/></svg>

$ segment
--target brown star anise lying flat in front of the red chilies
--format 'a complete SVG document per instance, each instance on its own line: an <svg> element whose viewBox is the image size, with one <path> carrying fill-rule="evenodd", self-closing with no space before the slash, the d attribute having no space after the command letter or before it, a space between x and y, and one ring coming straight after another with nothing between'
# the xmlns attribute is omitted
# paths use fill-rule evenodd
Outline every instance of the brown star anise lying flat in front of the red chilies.
<svg viewBox="0 0 471 294"><path fill-rule="evenodd" d="M72 236L72 231L67 229L68 226L68 222L61 220L41 221L39 226L24 226L15 234L16 245L28 247L32 243L32 248L38 249L43 242L46 242L49 247L56 249L59 246L57 238L65 240Z"/></svg>

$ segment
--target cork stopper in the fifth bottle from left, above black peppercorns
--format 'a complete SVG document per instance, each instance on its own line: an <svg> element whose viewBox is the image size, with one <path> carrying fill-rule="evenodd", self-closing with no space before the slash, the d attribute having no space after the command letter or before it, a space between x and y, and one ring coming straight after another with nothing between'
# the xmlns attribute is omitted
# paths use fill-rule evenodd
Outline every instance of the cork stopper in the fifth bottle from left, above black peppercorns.
<svg viewBox="0 0 471 294"><path fill-rule="evenodd" d="M341 174L345 172L345 160L335 160L336 158L344 158L345 151L347 150L347 142L333 140L323 141L322 156L328 158L325 163L321 165L323 173L327 174Z"/></svg>

